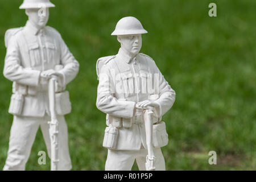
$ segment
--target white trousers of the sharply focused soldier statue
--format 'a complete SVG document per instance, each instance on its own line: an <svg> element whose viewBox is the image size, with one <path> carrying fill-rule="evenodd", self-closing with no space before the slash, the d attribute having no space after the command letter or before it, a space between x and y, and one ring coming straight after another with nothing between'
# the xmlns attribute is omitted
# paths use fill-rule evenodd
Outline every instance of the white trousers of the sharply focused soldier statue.
<svg viewBox="0 0 256 182"><path fill-rule="evenodd" d="M155 169L156 171L165 171L165 162L160 148L154 148ZM106 159L106 171L130 171L136 159L140 171L146 171L147 150L108 150Z"/></svg>

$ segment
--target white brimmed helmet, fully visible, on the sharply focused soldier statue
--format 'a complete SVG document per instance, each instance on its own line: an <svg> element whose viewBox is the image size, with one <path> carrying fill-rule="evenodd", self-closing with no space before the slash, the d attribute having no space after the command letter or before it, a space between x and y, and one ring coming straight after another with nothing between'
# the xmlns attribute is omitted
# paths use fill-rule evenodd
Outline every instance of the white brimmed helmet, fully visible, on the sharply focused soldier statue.
<svg viewBox="0 0 256 182"><path fill-rule="evenodd" d="M120 19L111 35L147 34L141 22L133 16Z"/></svg>

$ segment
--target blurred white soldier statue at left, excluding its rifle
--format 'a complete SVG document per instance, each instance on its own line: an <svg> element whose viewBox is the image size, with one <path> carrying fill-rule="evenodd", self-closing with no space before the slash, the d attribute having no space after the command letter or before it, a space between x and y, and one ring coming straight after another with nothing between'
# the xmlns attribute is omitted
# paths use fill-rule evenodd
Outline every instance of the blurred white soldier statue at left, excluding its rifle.
<svg viewBox="0 0 256 182"><path fill-rule="evenodd" d="M55 110L59 121L57 169L72 168L64 118L71 112L71 102L65 85L76 77L79 63L59 32L46 26L49 7L55 7L49 0L24 0L19 9L26 9L26 26L7 30L5 35L7 52L3 75L13 81L9 113L14 119L3 170L25 169L39 126L50 156L48 82L53 76L57 77Z"/></svg>

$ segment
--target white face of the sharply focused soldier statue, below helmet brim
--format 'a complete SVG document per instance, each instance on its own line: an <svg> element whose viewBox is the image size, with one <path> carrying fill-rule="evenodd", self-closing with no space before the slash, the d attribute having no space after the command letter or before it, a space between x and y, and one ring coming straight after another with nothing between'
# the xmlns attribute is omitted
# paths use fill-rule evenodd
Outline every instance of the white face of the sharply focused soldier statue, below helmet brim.
<svg viewBox="0 0 256 182"><path fill-rule="evenodd" d="M136 56L142 47L141 34L135 35L118 35L118 41L121 43L121 48L132 56Z"/></svg>

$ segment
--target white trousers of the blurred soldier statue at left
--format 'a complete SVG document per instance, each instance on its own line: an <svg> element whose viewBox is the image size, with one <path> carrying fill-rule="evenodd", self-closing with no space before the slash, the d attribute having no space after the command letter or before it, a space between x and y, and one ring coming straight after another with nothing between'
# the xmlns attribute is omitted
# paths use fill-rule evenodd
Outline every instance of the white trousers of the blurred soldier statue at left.
<svg viewBox="0 0 256 182"><path fill-rule="evenodd" d="M72 168L68 148L68 129L64 116L57 115L57 119L59 121L59 163L57 169L66 171ZM25 170L39 126L46 142L48 156L51 158L51 140L49 137L48 121L50 121L50 117L47 114L44 117L22 117L14 115L13 125L10 131L9 150L5 166L3 167L4 171Z"/></svg>

